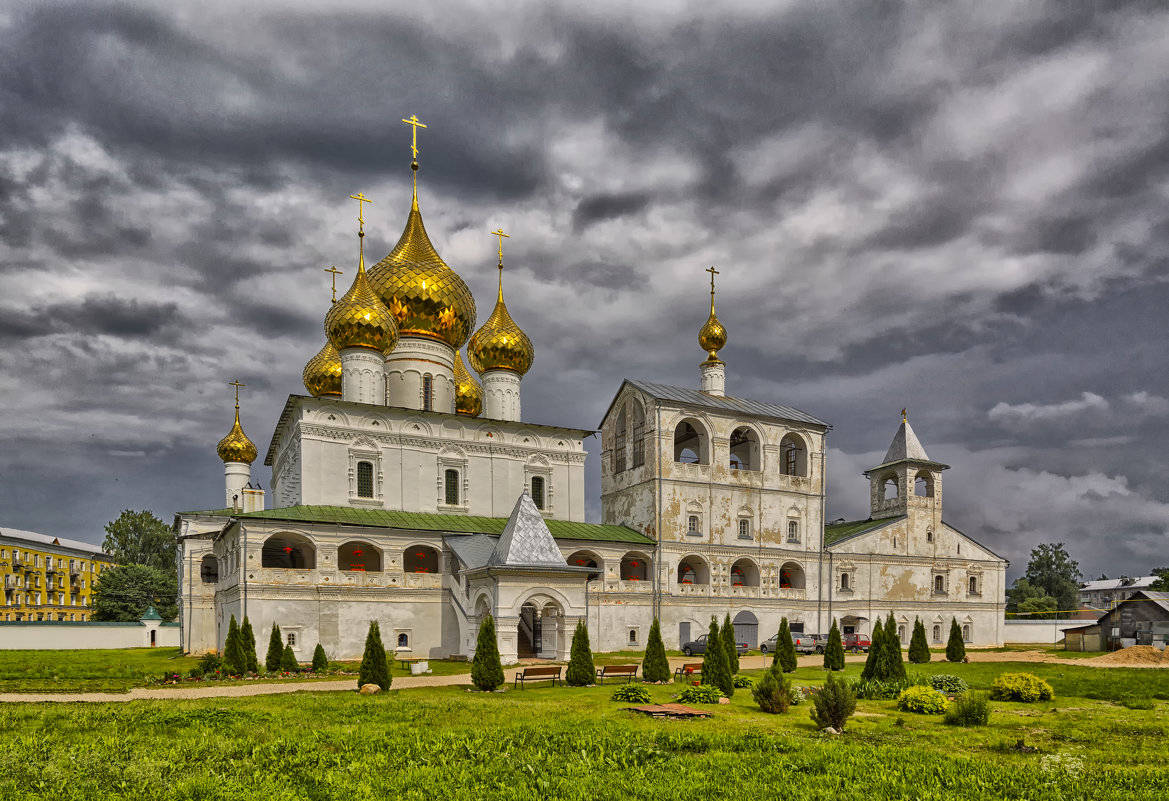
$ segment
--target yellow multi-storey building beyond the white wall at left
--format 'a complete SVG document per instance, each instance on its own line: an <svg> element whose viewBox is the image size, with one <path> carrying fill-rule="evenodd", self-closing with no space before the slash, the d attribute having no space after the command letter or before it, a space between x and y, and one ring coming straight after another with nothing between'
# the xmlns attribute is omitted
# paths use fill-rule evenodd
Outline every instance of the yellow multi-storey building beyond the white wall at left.
<svg viewBox="0 0 1169 801"><path fill-rule="evenodd" d="M90 543L0 529L0 621L88 621L94 584L112 566Z"/></svg>

